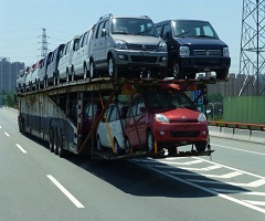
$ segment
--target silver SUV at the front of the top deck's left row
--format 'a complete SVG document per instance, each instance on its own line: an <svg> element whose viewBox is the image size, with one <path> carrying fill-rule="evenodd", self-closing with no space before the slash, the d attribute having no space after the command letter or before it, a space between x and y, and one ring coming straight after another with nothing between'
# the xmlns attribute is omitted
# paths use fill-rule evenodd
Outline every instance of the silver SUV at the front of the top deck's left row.
<svg viewBox="0 0 265 221"><path fill-rule="evenodd" d="M95 77L163 75L167 44L148 17L104 15L93 28L89 71Z"/></svg>

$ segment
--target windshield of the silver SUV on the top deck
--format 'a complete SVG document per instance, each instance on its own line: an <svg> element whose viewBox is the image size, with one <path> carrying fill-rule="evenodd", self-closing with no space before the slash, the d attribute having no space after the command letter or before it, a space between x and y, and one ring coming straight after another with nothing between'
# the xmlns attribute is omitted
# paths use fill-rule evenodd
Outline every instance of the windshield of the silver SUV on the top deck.
<svg viewBox="0 0 265 221"><path fill-rule="evenodd" d="M158 36L153 22L149 19L115 18L112 22L112 34L134 34Z"/></svg>

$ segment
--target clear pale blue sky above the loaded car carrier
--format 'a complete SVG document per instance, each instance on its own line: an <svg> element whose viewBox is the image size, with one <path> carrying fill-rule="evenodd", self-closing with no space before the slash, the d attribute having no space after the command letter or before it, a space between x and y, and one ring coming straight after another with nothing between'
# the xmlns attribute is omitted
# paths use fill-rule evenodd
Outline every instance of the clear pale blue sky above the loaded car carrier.
<svg viewBox="0 0 265 221"><path fill-rule="evenodd" d="M230 73L239 73L243 0L0 0L0 57L31 65L41 55L42 29L53 51L108 13L209 21L230 48Z"/></svg>

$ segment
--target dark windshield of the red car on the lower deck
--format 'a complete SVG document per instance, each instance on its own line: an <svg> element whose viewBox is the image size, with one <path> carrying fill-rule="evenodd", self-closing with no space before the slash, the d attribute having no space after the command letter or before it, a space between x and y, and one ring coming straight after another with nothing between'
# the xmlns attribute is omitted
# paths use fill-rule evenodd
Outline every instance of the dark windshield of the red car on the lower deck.
<svg viewBox="0 0 265 221"><path fill-rule="evenodd" d="M150 109L157 108L189 108L195 109L192 101L184 93L176 92L152 92L147 93L147 103Z"/></svg>

